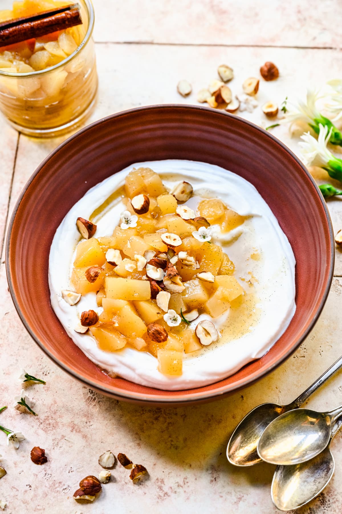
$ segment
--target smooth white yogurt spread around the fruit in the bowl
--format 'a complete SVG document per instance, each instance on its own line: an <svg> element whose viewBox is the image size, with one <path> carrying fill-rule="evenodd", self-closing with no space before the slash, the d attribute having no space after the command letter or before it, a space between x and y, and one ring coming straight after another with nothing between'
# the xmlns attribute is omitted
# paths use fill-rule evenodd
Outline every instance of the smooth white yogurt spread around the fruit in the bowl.
<svg viewBox="0 0 342 514"><path fill-rule="evenodd" d="M195 196L220 198L226 205L243 216L245 223L227 234L218 233L213 242L223 247L235 264L234 276L247 291L254 291L255 308L250 318L242 319L247 329L230 337L230 317L215 319L222 333L218 344L206 348L200 355L188 354L183 362L182 376L169 377L157 370L157 359L145 352L124 348L118 352L100 350L91 335L74 331L83 310L98 313L95 293L82 297L76 305L68 305L62 298L62 289L69 289L74 251L79 241L75 221L78 216L89 219L91 213L123 186L125 176L132 168L148 167L158 173L167 187L180 180L188 180ZM191 199L189 205L191 206ZM192 205L193 207L193 205ZM96 236L110 235L125 210L118 200L97 222ZM251 254L260 255L259 260ZM253 278L253 288L249 279ZM242 280L246 279L246 280ZM288 327L295 312L295 259L288 238L266 202L242 177L205 162L165 160L132 164L91 188L63 219L54 235L49 256L49 285L51 305L67 333L89 359L116 375L165 390L190 389L221 380L242 368L253 359L262 357ZM254 317L253 312L259 314ZM203 319L211 319L203 315ZM249 326L249 319L251 325ZM198 323L199 319L193 322ZM235 320L236 324L236 320ZM233 325L232 325L233 326ZM236 332L236 331L235 331Z"/></svg>

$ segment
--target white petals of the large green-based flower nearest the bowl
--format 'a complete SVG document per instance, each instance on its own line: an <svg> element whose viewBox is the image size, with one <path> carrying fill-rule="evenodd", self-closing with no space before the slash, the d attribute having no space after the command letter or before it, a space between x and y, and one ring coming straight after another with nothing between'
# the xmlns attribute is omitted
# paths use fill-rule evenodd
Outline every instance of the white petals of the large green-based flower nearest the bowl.
<svg viewBox="0 0 342 514"><path fill-rule="evenodd" d="M333 154L327 149L327 144L331 136L328 127L319 124L318 140L311 136L310 132L306 132L302 136L303 142L299 142L301 147L301 155L305 166L326 166L330 160L335 159Z"/></svg>

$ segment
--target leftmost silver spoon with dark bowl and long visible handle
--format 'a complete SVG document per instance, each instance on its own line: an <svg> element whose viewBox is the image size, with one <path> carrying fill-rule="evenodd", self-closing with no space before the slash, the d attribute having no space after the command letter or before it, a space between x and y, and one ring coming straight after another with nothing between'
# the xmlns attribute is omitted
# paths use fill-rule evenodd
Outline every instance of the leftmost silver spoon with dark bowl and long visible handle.
<svg viewBox="0 0 342 514"><path fill-rule="evenodd" d="M227 458L235 466L252 466L262 461L256 448L266 427L284 412L297 409L314 393L328 378L342 368L342 357L336 360L328 370L311 384L304 393L289 405L278 403L262 403L251 410L237 425L227 446Z"/></svg>

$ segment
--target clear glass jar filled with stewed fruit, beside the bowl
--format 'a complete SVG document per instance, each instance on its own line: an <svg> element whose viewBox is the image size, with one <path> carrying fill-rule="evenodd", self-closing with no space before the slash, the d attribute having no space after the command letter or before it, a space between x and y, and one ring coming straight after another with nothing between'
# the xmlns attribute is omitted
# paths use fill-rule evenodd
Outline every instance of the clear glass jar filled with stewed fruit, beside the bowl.
<svg viewBox="0 0 342 514"><path fill-rule="evenodd" d="M83 25L79 26L78 46L69 57L41 71L0 70L0 110L19 132L53 137L70 131L91 114L97 91L94 8L91 0L78 3Z"/></svg>

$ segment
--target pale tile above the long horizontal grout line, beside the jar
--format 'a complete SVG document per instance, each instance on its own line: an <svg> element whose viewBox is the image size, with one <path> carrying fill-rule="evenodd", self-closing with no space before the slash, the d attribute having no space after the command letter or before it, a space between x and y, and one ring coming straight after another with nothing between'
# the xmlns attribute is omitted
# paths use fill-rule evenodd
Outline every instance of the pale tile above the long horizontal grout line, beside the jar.
<svg viewBox="0 0 342 514"><path fill-rule="evenodd" d="M342 4L336 0L94 0L93 3L96 41L341 46L338 21ZM182 48L178 51L182 59ZM131 64L135 62L133 59Z"/></svg>

